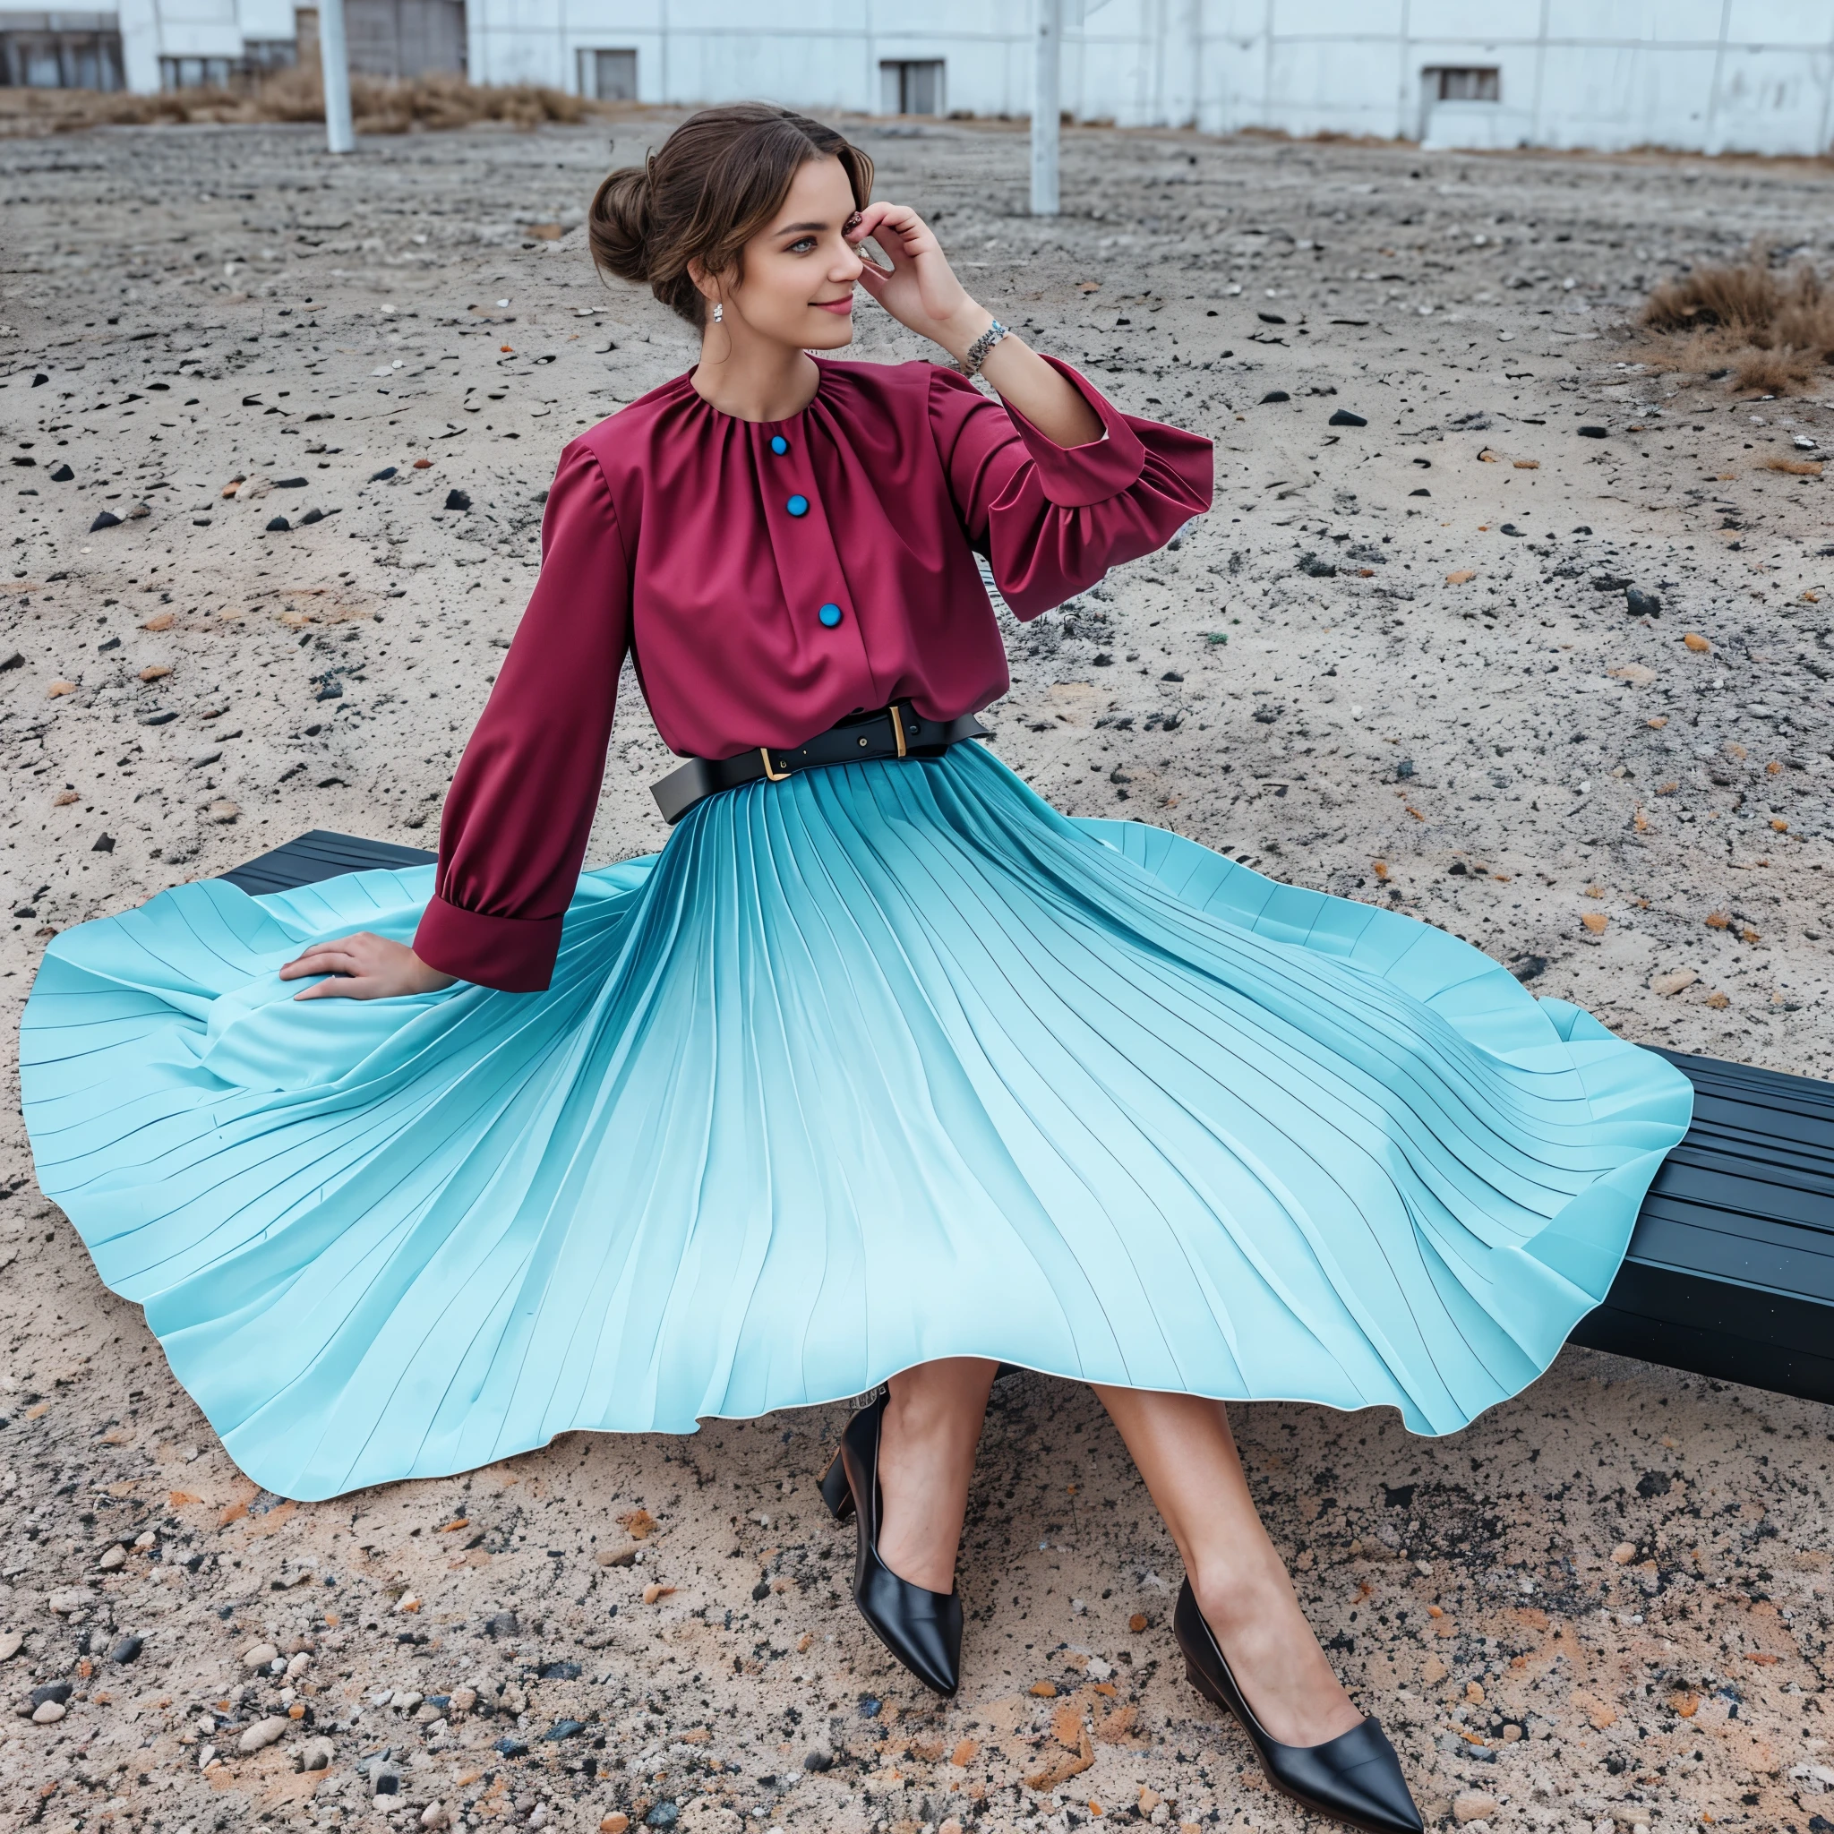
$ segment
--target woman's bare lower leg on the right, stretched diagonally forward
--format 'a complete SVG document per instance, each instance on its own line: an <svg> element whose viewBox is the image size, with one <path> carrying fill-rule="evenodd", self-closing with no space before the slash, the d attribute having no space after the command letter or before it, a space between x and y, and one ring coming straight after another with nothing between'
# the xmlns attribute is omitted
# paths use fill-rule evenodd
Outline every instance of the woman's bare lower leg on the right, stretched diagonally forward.
<svg viewBox="0 0 1834 1834"><path fill-rule="evenodd" d="M1363 1715L1331 1673L1293 1581L1254 1513L1221 1401L1097 1387L1190 1590L1254 1717L1282 1744L1324 1744Z"/></svg>

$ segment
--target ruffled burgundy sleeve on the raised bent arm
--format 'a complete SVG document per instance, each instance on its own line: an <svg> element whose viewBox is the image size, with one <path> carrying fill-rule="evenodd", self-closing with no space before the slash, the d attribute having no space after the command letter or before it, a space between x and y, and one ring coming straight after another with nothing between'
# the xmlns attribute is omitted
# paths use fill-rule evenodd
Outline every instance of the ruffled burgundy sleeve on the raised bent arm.
<svg viewBox="0 0 1834 1834"><path fill-rule="evenodd" d="M1099 440L1056 446L956 370L937 367L930 381L930 431L956 510L1020 618L1165 547L1210 506L1207 438L1122 414L1067 363L1045 361L1100 416Z"/></svg>

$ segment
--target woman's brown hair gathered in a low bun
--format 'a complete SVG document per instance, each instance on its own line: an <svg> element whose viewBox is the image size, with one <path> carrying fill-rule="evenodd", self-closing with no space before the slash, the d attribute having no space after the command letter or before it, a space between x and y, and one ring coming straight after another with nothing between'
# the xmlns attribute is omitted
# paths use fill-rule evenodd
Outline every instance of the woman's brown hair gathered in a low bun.
<svg viewBox="0 0 1834 1834"><path fill-rule="evenodd" d="M873 161L834 128L772 108L730 103L691 114L642 165L613 172L587 218L592 260L624 281L647 284L690 325L706 299L688 273L745 277L745 244L783 207L809 160L840 160L856 209L873 191Z"/></svg>

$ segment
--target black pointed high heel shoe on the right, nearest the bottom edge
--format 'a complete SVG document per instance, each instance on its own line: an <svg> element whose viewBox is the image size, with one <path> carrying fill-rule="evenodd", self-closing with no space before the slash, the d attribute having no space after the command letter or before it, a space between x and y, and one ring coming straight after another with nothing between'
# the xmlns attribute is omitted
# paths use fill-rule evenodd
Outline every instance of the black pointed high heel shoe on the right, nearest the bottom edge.
<svg viewBox="0 0 1834 1834"><path fill-rule="evenodd" d="M1364 1834L1421 1834L1425 1823L1401 1775L1401 1761L1374 1715L1324 1744L1280 1744L1267 1737L1242 1696L1188 1579L1177 1592L1172 1634L1185 1652L1190 1685L1242 1722L1262 1775L1282 1795Z"/></svg>

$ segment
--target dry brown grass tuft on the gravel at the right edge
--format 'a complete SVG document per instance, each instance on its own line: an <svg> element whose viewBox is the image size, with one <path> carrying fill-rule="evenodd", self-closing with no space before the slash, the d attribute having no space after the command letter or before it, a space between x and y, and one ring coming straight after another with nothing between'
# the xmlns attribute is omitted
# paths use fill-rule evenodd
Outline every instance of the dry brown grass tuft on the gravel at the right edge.
<svg viewBox="0 0 1834 1834"><path fill-rule="evenodd" d="M1779 271L1761 249L1739 266L1663 281L1640 323L1652 365L1729 370L1737 391L1790 394L1834 363L1834 284L1808 266Z"/></svg>

